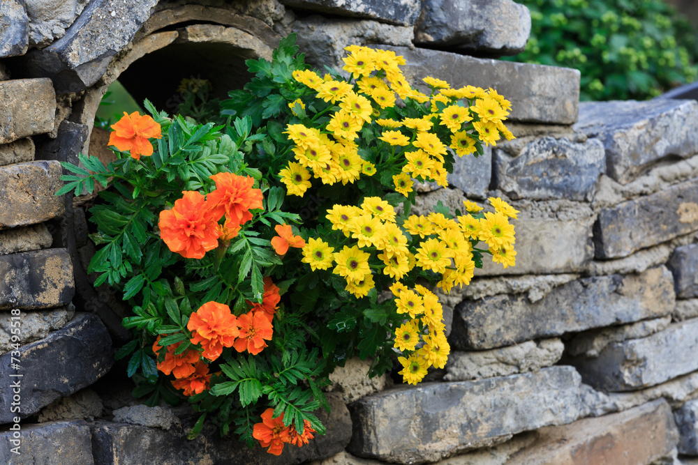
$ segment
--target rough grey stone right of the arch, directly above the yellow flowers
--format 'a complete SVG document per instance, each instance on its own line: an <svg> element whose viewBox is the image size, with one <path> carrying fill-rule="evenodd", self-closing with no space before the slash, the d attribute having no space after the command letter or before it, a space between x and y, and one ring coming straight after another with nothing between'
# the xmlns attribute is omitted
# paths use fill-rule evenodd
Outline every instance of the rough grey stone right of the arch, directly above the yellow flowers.
<svg viewBox="0 0 698 465"><path fill-rule="evenodd" d="M311 16L297 20L291 25L297 33L297 43L306 61L320 69L323 65L341 69L343 57L347 56L347 44L369 45L385 49L385 45L409 47L414 29L409 26L393 26L370 20L330 20Z"/></svg>

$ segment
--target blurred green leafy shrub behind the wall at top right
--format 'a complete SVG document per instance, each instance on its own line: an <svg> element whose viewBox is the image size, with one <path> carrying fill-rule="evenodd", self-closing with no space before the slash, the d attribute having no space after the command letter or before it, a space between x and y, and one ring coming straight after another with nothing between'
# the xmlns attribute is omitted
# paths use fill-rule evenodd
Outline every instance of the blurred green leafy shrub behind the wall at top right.
<svg viewBox="0 0 698 465"><path fill-rule="evenodd" d="M660 0L517 0L533 24L506 59L581 71L581 100L645 100L698 78L695 29Z"/></svg>

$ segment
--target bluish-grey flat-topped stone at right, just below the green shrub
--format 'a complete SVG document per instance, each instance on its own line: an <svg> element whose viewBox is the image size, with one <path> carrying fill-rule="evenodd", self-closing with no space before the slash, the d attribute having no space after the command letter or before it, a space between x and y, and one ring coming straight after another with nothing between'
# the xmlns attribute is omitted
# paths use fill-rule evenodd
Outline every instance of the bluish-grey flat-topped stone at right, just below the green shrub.
<svg viewBox="0 0 698 465"><path fill-rule="evenodd" d="M574 129L601 139L608 175L626 184L662 158L698 153L698 103L671 99L583 102Z"/></svg>

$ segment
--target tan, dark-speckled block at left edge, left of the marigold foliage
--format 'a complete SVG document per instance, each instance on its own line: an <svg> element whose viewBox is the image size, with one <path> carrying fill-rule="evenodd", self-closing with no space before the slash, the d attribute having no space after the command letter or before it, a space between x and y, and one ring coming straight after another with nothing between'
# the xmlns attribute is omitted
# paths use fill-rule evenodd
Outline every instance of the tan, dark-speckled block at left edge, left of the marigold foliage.
<svg viewBox="0 0 698 465"><path fill-rule="evenodd" d="M63 187L57 161L16 163L0 167L0 229L51 220L65 211L55 193Z"/></svg>

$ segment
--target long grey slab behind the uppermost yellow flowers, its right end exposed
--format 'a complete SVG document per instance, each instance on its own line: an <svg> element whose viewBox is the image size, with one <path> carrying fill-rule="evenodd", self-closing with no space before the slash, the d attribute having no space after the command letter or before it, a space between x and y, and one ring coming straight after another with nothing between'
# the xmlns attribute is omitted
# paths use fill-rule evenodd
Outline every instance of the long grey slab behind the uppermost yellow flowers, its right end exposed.
<svg viewBox="0 0 698 465"><path fill-rule="evenodd" d="M579 71L557 66L514 63L430 49L387 47L403 55L410 82L426 89L422 78L444 79L454 88L492 87L512 102L509 119L526 123L572 124L577 121Z"/></svg>

